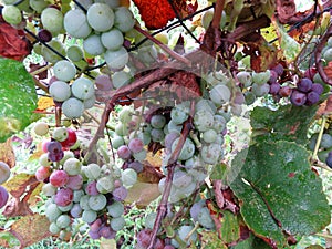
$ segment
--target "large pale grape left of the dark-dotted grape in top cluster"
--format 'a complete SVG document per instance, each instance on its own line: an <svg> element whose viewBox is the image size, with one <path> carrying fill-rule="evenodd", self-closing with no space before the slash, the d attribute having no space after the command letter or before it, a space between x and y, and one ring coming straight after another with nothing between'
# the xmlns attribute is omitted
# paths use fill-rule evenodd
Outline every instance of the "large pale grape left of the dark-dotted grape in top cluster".
<svg viewBox="0 0 332 249"><path fill-rule="evenodd" d="M70 10L63 19L65 31L73 38L87 38L92 29L81 9Z"/></svg>

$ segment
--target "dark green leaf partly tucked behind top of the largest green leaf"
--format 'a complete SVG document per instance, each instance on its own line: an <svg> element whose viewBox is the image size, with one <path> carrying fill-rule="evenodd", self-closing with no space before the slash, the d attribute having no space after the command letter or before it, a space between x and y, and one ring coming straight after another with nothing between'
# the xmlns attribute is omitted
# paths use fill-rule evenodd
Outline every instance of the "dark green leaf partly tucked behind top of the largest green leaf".
<svg viewBox="0 0 332 249"><path fill-rule="evenodd" d="M307 133L318 106L283 105L277 111L255 107L251 112L252 137L256 142L290 141L307 144Z"/></svg>

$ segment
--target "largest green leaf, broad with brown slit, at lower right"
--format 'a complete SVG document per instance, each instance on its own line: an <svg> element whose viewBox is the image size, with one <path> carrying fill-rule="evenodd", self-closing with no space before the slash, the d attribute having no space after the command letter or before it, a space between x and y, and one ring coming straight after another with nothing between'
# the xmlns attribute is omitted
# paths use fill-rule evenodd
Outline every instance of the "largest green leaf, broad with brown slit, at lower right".
<svg viewBox="0 0 332 249"><path fill-rule="evenodd" d="M240 154L240 162L242 157ZM309 153L295 143L259 143L249 147L243 166L230 183L245 222L278 248L287 247L286 234L310 235L330 224L322 181L308 158Z"/></svg>

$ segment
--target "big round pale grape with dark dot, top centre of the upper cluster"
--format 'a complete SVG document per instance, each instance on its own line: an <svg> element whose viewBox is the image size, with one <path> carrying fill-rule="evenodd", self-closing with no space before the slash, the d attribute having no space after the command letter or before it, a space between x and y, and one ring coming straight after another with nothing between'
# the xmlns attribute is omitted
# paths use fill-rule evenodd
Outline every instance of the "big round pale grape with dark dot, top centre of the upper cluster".
<svg viewBox="0 0 332 249"><path fill-rule="evenodd" d="M93 3L87 9L87 22L96 31L111 30L114 24L114 12L105 3Z"/></svg>

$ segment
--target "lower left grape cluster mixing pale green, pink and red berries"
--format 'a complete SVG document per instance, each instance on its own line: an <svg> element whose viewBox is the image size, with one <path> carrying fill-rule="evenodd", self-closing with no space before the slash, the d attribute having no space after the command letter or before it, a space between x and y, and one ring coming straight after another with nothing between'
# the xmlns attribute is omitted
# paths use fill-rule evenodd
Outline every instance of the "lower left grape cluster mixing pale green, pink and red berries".
<svg viewBox="0 0 332 249"><path fill-rule="evenodd" d="M40 136L50 134L44 122L38 122L33 129ZM35 177L44 183L42 193L49 197L45 215L50 231L63 238L75 220L81 220L90 226L91 238L115 238L125 226L124 185L134 184L133 175L116 165L84 165L75 149L80 149L80 142L75 131L66 127L55 127L51 139L43 143Z"/></svg>

